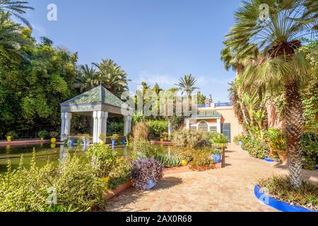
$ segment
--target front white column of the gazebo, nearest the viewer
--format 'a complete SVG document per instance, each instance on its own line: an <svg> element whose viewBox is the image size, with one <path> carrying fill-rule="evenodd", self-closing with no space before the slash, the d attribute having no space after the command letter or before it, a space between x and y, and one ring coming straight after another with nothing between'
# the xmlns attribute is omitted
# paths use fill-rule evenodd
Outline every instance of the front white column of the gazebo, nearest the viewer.
<svg viewBox="0 0 318 226"><path fill-rule="evenodd" d="M93 112L93 143L100 142L100 134L107 131L108 112L96 111Z"/></svg>

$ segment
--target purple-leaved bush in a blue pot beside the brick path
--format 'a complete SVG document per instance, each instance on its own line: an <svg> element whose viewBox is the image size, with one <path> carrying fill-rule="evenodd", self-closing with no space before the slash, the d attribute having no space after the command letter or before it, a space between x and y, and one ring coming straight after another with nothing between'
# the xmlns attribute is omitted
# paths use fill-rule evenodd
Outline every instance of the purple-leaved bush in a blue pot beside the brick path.
<svg viewBox="0 0 318 226"><path fill-rule="evenodd" d="M145 191L151 179L156 183L163 179L163 165L153 158L134 160L132 162L131 178L136 189Z"/></svg>

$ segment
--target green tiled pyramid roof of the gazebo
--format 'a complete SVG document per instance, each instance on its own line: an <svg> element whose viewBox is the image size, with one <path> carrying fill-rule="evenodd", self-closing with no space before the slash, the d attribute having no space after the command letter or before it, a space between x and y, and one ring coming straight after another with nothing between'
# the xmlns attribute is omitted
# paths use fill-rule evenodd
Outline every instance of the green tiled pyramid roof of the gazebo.
<svg viewBox="0 0 318 226"><path fill-rule="evenodd" d="M106 88L102 85L99 85L93 90L89 90L86 93L82 93L76 97L73 97L71 100L67 100L62 103L61 106L65 105L85 105L85 104L93 104L93 103L103 103L107 105L112 105L114 107L122 107L124 102L119 100L114 94L110 93Z"/></svg>

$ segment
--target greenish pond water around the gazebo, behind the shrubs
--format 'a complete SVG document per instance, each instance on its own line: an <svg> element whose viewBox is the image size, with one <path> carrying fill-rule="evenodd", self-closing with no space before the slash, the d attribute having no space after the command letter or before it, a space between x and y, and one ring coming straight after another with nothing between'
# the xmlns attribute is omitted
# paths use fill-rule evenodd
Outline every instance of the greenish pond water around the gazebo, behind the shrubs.
<svg viewBox="0 0 318 226"><path fill-rule="evenodd" d="M153 145L158 153L165 153L170 150L169 147L163 145ZM75 153L86 153L88 147L84 146L73 146L73 148L64 145L14 145L14 146L0 146L0 174L6 172L8 161L11 161L12 169L16 169L20 162L20 157L23 155L23 164L25 167L30 166L30 160L33 157L33 148L36 153L37 166L42 167L47 162L52 162L53 165L57 166L59 160L63 160L68 154ZM129 156L131 149L126 146L119 146L114 149L119 155Z"/></svg>

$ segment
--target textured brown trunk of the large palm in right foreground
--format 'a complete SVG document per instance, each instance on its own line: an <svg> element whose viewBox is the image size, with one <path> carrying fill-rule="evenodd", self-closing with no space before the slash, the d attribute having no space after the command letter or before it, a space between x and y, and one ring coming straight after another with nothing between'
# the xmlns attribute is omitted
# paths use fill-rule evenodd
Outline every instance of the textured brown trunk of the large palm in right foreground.
<svg viewBox="0 0 318 226"><path fill-rule="evenodd" d="M287 138L290 182L294 189L302 185L302 99L298 83L285 85L285 136Z"/></svg>

